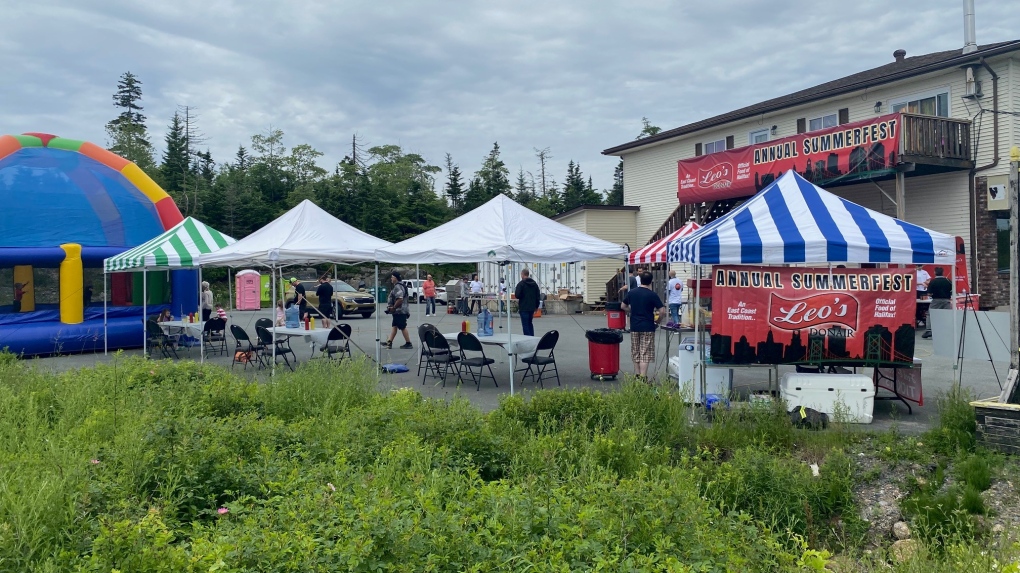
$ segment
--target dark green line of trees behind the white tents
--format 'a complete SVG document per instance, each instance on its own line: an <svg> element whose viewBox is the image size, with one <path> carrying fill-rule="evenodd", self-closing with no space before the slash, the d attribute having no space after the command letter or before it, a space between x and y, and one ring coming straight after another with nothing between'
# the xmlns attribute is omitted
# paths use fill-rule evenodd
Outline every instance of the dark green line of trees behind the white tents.
<svg viewBox="0 0 1020 573"><path fill-rule="evenodd" d="M235 238L262 227L301 201L310 199L332 215L387 241L428 230L505 194L546 216L582 205L622 205L623 167L611 189L596 190L580 164L571 160L562 183L546 166L550 150L536 149L538 173L523 167L511 175L499 143L470 175L447 153L435 165L397 145L363 149L352 137L349 153L333 170L319 166L322 152L308 144L290 149L284 132L269 127L239 145L234 157L215 160L198 127L195 109L178 107L167 124L157 158L146 127L142 82L123 73L113 94L120 110L106 125L110 151L137 163L194 216ZM646 127L647 120L646 120Z"/></svg>

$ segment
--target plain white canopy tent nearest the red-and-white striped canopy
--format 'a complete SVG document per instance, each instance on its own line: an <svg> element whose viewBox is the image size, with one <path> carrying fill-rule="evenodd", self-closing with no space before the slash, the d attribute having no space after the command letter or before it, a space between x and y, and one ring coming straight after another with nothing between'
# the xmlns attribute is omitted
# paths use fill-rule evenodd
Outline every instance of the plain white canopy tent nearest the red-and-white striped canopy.
<svg viewBox="0 0 1020 573"><path fill-rule="evenodd" d="M559 263L593 259L625 259L628 250L583 233L522 207L506 195L429 231L375 252L375 260L392 263ZM510 281L507 281L507 308ZM512 321L507 321L508 348ZM513 359L508 357L510 394Z"/></svg>

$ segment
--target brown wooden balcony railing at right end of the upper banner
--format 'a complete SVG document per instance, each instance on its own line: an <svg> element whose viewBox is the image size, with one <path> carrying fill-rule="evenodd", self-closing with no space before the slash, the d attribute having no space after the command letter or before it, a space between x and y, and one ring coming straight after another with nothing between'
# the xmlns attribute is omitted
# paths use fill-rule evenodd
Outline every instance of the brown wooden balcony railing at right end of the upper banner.
<svg viewBox="0 0 1020 573"><path fill-rule="evenodd" d="M971 168L970 121L904 113L900 161Z"/></svg>

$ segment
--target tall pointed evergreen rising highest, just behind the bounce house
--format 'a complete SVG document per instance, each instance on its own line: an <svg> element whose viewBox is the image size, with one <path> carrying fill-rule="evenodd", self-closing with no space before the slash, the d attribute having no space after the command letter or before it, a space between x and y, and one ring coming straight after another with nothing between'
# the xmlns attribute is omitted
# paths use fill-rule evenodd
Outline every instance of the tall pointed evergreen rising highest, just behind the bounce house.
<svg viewBox="0 0 1020 573"><path fill-rule="evenodd" d="M134 73L125 71L117 81L113 106L121 111L106 123L110 151L135 162L147 173L157 174L152 143L142 114L142 81Z"/></svg>

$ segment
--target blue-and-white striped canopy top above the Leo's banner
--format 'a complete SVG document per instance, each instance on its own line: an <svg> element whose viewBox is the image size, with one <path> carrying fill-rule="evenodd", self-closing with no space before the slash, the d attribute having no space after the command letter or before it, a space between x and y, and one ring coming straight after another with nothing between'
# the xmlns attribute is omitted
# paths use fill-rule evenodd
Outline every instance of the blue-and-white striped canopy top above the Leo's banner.
<svg viewBox="0 0 1020 573"><path fill-rule="evenodd" d="M956 240L832 195L794 170L711 224L669 244L694 264L946 263Z"/></svg>

